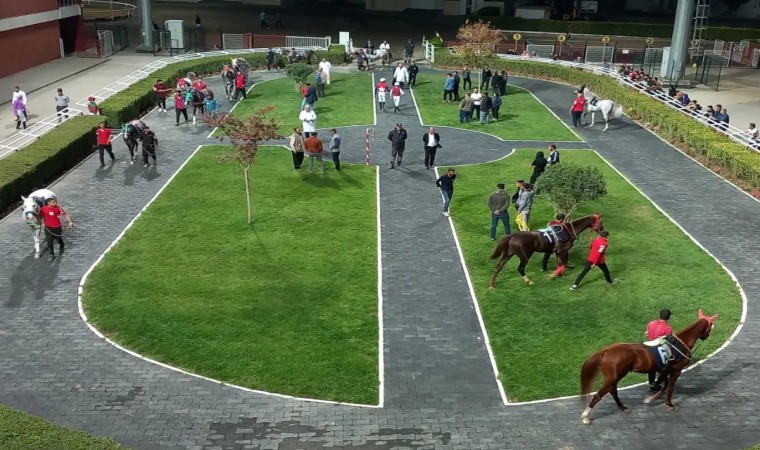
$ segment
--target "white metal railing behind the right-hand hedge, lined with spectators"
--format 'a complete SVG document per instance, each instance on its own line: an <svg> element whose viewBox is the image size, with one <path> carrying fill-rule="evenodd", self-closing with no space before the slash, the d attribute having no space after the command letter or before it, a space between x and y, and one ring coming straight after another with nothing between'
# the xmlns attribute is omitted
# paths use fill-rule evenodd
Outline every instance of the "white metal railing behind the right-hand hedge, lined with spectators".
<svg viewBox="0 0 760 450"><path fill-rule="evenodd" d="M674 109L676 111L679 111L680 113L687 115L691 118L693 118L696 122L701 123L704 126L707 126L709 128L712 128L714 131L717 131L718 133L721 133L725 136L727 136L732 141L744 145L747 148L760 153L760 143L753 142L750 137L747 135L747 132L743 129L737 128L733 125L725 124L725 123L719 123L714 120L708 119L704 116L704 112L693 112L683 105L681 105L680 102L676 101L675 98L668 96L667 92L663 91L649 91L648 87L645 85L642 85L640 83L634 83L630 80L628 77L624 77L617 73L615 70L605 70L602 67L599 67L597 65L592 64L584 64L584 63L576 63L572 61L563 61L563 60L552 60L549 58L522 58L520 56L516 55L504 55L500 54L499 58L507 59L507 60L519 60L519 61L533 61L538 63L544 63L544 64L556 64L560 66L565 67L572 67L578 70L585 70L588 72L592 72L595 75L603 75L608 76L610 78L614 78L617 80L620 84L625 85L629 88L635 89L639 91L642 94L647 95L650 98L653 98L655 100L660 101L664 105L670 107L671 109ZM589 87L591 89L591 86ZM592 89L593 90L593 89Z"/></svg>

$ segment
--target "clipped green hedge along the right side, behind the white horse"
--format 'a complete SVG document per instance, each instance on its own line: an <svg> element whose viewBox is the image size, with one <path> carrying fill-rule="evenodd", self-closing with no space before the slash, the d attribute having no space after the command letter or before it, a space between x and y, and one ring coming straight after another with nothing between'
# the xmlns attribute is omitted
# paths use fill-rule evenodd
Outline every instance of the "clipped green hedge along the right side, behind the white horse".
<svg viewBox="0 0 760 450"><path fill-rule="evenodd" d="M461 67L460 57L448 52L436 54L436 65ZM730 140L708 127L697 125L694 119L661 102L621 85L617 80L595 75L572 67L531 61L496 60L491 68L507 70L510 74L568 83L572 86L594 86L600 97L625 106L634 120L650 126L653 131L676 146L685 146L707 161L728 171L732 176L760 189L760 154Z"/></svg>

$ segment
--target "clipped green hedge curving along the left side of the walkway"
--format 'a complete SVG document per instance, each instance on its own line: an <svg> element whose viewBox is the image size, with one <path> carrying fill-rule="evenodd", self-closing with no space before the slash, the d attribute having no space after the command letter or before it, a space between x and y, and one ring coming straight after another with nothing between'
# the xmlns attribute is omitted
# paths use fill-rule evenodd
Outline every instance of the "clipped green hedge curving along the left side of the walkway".
<svg viewBox="0 0 760 450"><path fill-rule="evenodd" d="M340 46L317 52L316 56L328 58L333 64L345 60L345 52ZM99 122L106 121L109 126L118 127L149 110L153 106L153 84L157 79L174 86L177 79L187 72L217 73L234 57L245 58L254 69L266 66L263 53L214 56L171 64L103 101L100 104L103 116L72 119L23 150L0 159L0 212L18 202L21 195L28 195L33 189L45 186L87 157L92 152L94 129Z"/></svg>

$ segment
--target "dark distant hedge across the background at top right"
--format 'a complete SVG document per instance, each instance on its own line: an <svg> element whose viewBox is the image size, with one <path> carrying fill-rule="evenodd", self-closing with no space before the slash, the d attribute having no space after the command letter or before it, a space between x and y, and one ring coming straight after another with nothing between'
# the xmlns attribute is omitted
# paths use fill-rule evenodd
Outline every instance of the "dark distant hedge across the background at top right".
<svg viewBox="0 0 760 450"><path fill-rule="evenodd" d="M568 22L566 20L533 20L502 16L478 16L477 18L491 22L502 30L657 38L673 36L673 25L666 23ZM705 32L705 39L722 39L730 42L738 42L743 39L760 39L760 30L755 28L709 27Z"/></svg>

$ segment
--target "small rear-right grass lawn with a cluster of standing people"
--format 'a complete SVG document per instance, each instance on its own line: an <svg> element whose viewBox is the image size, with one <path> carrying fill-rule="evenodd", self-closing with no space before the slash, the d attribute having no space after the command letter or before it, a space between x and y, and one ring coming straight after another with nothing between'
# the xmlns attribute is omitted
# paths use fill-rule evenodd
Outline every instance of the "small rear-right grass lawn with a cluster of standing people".
<svg viewBox="0 0 760 450"><path fill-rule="evenodd" d="M440 76L426 76L414 87L414 98L426 125L449 126L465 130L482 131L506 140L578 141L570 129L557 120L530 92L507 86L503 97L499 121L481 125L477 120L459 123L459 102L443 103L443 80ZM463 95L464 91L460 91Z"/></svg>

